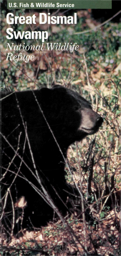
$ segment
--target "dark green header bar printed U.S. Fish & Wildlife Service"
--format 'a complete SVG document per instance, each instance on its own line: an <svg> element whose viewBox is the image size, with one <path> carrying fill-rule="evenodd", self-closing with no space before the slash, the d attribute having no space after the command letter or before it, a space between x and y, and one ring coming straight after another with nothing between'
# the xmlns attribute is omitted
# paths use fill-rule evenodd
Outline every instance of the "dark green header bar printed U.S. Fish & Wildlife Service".
<svg viewBox="0 0 121 256"><path fill-rule="evenodd" d="M11 9L111 9L112 0L7 0Z"/></svg>

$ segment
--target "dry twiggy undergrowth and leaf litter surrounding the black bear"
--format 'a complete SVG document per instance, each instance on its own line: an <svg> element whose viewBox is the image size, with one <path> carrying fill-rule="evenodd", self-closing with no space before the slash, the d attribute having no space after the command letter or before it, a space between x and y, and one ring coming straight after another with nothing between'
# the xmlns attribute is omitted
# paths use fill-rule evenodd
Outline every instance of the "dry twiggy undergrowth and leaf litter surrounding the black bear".
<svg viewBox="0 0 121 256"><path fill-rule="evenodd" d="M35 10L14 10L16 16ZM77 11L77 25L42 25L49 29L48 42L72 43L79 50L27 52L34 61L6 61L6 11L2 11L1 90L51 88L61 84L76 90L90 101L104 118L99 132L68 149L67 182L80 196L73 201L66 225L60 220L38 231L24 231L23 237L7 242L1 237L1 255L120 255L120 86L121 23L108 22L97 31L79 33L99 25L88 11ZM36 12L38 17L39 13ZM58 12L58 15L63 15ZM65 13L66 15L66 13ZM14 25L15 26L15 25ZM14 30L30 30L17 24ZM35 25L31 27L35 30ZM14 42L14 41L13 41ZM40 45L39 40L15 44ZM19 52L11 51L14 55Z"/></svg>

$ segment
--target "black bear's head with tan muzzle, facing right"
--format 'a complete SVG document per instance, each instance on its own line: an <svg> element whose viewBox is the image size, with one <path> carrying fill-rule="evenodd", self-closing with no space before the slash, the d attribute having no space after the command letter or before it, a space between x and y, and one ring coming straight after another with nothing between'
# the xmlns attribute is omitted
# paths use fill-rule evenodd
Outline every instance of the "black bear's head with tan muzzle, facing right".
<svg viewBox="0 0 121 256"><path fill-rule="evenodd" d="M102 125L103 118L93 111L90 103L70 89L58 85L43 88L41 102L54 134L70 141L69 144L96 133Z"/></svg>

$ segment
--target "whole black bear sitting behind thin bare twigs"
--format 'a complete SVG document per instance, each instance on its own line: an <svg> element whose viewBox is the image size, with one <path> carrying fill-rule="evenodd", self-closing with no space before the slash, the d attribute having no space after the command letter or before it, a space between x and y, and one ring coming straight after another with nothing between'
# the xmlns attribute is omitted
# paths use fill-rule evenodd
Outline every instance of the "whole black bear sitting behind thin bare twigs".
<svg viewBox="0 0 121 256"><path fill-rule="evenodd" d="M66 212L67 149L96 133L103 118L82 96L58 85L2 93L1 110L1 219L13 234L52 219L49 198Z"/></svg>

